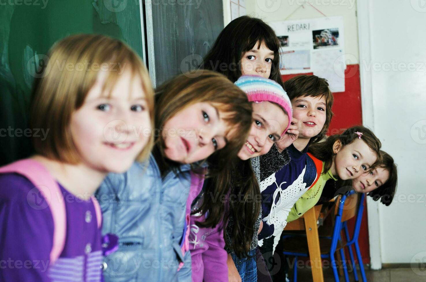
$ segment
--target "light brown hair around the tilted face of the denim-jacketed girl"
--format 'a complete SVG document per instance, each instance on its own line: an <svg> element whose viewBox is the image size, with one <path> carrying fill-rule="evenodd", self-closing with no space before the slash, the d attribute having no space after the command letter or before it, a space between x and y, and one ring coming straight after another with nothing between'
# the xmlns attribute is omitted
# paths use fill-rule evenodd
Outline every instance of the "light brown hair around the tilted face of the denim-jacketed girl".
<svg viewBox="0 0 426 282"><path fill-rule="evenodd" d="M160 133L168 119L191 104L209 102L226 113L224 120L232 129L229 142L208 159L216 161L217 167L225 166L245 143L252 121L251 103L247 95L222 74L207 70L184 73L164 82L155 92L155 128ZM155 143L162 165L166 169L173 166L165 158L162 134L156 136Z"/></svg>

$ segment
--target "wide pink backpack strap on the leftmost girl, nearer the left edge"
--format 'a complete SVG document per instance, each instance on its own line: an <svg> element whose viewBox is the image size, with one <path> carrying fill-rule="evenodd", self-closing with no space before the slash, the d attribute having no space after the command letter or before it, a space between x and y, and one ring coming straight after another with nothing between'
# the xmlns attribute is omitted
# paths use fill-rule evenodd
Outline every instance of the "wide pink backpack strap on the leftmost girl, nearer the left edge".
<svg viewBox="0 0 426 282"><path fill-rule="evenodd" d="M50 262L54 263L62 253L66 237L65 202L58 183L46 167L33 159L24 159L0 167L0 173L18 173L25 176L41 192L48 203L54 226Z"/></svg>

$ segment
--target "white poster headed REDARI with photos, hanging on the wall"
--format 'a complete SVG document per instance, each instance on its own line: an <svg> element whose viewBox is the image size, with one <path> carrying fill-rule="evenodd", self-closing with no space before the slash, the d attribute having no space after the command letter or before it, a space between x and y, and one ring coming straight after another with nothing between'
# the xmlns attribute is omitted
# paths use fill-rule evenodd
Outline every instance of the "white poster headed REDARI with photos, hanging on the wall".
<svg viewBox="0 0 426 282"><path fill-rule="evenodd" d="M334 71L345 64L343 17L285 20L270 25L279 39L281 74L314 73L328 80L331 91L345 91L344 76Z"/></svg>

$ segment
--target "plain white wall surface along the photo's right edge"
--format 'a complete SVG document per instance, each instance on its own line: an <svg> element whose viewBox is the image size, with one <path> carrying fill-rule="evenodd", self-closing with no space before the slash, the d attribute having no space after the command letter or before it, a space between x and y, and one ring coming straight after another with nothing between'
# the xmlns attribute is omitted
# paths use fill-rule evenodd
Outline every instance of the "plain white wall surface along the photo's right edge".
<svg viewBox="0 0 426 282"><path fill-rule="evenodd" d="M371 112L366 114L372 124L367 125L374 127L383 149L398 164L399 172L394 202L389 207L378 205L379 226L373 232L380 234L383 263L424 261L426 6L417 0L360 1L366 3L369 14L371 51L366 48L365 57L370 58L360 62L361 73L371 82L370 89L362 96L371 101ZM370 212L370 206L368 209Z"/></svg>

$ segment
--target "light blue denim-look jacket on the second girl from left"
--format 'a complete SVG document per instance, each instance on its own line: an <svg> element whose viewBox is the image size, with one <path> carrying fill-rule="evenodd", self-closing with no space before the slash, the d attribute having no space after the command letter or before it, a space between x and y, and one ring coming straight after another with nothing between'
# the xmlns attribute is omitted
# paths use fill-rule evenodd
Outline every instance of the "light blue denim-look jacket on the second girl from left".
<svg viewBox="0 0 426 282"><path fill-rule="evenodd" d="M180 169L161 178L151 154L144 164L107 175L97 191L102 234L116 234L119 240L118 250L104 260L105 281L191 281L190 252L183 256L180 247L190 165ZM178 271L179 262L187 269Z"/></svg>

